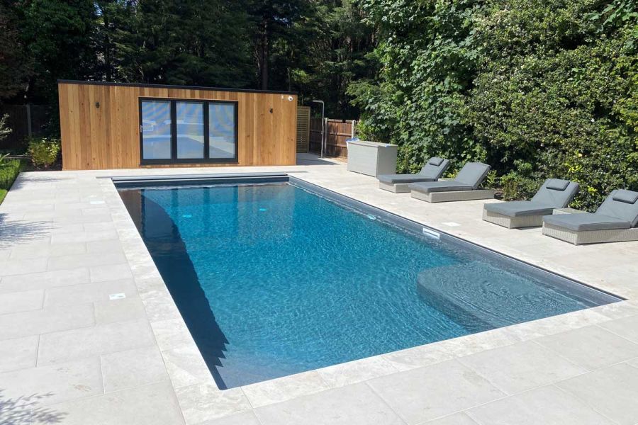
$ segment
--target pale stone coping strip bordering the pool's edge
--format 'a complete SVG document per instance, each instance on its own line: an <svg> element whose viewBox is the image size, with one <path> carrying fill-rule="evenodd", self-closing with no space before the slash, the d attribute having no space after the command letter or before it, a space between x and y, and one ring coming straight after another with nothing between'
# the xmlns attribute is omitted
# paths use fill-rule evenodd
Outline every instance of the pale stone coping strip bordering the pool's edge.
<svg viewBox="0 0 638 425"><path fill-rule="evenodd" d="M198 177L201 178L201 175L198 175ZM303 178L298 176L294 176L294 178L305 181ZM139 180L140 179L138 179L138 181ZM310 185L323 188L327 191L331 191L329 188L324 188L316 183L310 181L305 182ZM191 353L199 353L195 341L186 329L186 325L184 324L183 319L181 319L181 315L179 315L177 306L174 304L162 276L159 275L159 271L157 271L157 267L155 266L150 253L147 251L147 248L142 241L142 237L138 233L138 229L135 227L128 210L126 210L125 205L118 194L116 185L113 183L112 179L107 178L101 181L101 187L104 192L106 202L108 203L108 207L111 210L113 222L118 234L120 235L125 256L127 257L130 268L133 271L133 278L135 280L135 284L138 285L138 292L140 293L142 302L145 305L147 315L149 317L162 317L162 320L154 321L150 319L151 328L158 341L160 350L163 349L160 341L164 341L167 338L167 326L173 325L181 329L181 334L179 336L181 344L190 346L189 351ZM335 191L332 192L339 196L345 196ZM359 203L364 203L362 200L354 198L351 199ZM370 206L386 211L381 207L376 207L374 205ZM435 229L437 232L449 234L443 229L438 229L431 224L411 220L408 217L403 217L395 214L394 212L386 212L391 215L397 215L405 220L415 222L418 225L430 227ZM459 238L453 234L449 234L449 236ZM459 239L466 241L466 239L463 238ZM514 257L508 256L508 254L498 251L498 249L488 248L472 241L466 242L481 246L482 248L493 251L496 254L515 259ZM564 276L570 280L575 280L578 283L595 290L600 290L603 293L608 293L607 290L598 288L596 285L583 283L577 278L570 277L569 273L565 275L565 273L552 271L551 268L544 268L543 266L523 261L522 259L515 260L530 264L535 268L549 271L549 273ZM150 290L150 288L152 289ZM614 296L622 297L622 295ZM222 418L240 412L247 412L248 410L257 407L264 407L269 404L285 402L297 397L313 395L324 390L330 390L332 388L338 388L373 378L379 378L392 373L413 370L415 368L449 361L454 358L462 358L482 351L488 351L493 348L508 346L521 341L528 341L539 336L558 334L561 331L578 329L580 327L587 327L592 324L625 317L625 315L633 315L636 314L637 308L638 307L634 304L634 302L625 298L625 300L615 302L610 305L592 307L532 322L514 324L508 327L501 327L476 334L460 336L458 338L447 339L432 344L406 348L401 351L393 351L391 353L362 358L356 361L331 365L325 368L309 370L303 373L257 382L251 385L233 387L228 390L219 390L216 382L213 380L211 374L208 372L208 368L206 367L194 368L197 372L191 373L191 377L189 377L187 385L182 385L184 379L181 370L167 368L167 371L179 404L181 406L183 404L188 404L190 406L187 408L182 407L186 423L196 424L201 421ZM166 319L165 317L169 317L169 319ZM181 323L177 323L177 321L181 321ZM184 329L186 330L187 335L184 334ZM199 358L194 359L194 361L205 365L201 355L198 357ZM201 409L198 406L201 406Z"/></svg>

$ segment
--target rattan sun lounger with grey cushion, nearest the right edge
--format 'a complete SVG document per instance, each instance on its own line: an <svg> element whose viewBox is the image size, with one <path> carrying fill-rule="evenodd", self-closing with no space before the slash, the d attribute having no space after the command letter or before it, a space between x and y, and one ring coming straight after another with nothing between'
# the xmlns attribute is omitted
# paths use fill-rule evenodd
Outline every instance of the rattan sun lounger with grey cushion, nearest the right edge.
<svg viewBox="0 0 638 425"><path fill-rule="evenodd" d="M571 244L638 240L638 192L612 191L593 214L543 217L543 234Z"/></svg>

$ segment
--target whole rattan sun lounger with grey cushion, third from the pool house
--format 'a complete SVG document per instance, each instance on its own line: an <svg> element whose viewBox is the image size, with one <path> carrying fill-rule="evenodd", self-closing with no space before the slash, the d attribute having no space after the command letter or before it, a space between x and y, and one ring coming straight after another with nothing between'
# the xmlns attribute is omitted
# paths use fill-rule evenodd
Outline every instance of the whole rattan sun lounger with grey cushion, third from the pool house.
<svg viewBox="0 0 638 425"><path fill-rule="evenodd" d="M554 208L565 208L578 193L578 183L569 180L547 179L532 200L485 204L483 220L515 229L543 225L543 216Z"/></svg>

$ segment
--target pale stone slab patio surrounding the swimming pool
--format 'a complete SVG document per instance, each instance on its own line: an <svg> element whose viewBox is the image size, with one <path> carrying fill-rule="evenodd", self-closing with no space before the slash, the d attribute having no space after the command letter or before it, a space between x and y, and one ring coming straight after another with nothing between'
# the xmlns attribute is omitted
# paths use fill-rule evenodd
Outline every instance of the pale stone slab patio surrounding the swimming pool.
<svg viewBox="0 0 638 425"><path fill-rule="evenodd" d="M0 205L0 423L638 424L638 242L572 246L483 222L485 201L299 164L21 174ZM242 171L289 172L627 301L220 391L96 177Z"/></svg>

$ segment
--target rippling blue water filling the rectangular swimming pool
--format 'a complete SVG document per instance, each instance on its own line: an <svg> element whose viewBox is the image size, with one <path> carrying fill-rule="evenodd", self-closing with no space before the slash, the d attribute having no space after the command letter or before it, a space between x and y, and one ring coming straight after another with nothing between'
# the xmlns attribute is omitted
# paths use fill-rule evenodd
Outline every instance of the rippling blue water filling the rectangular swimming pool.
<svg viewBox="0 0 638 425"><path fill-rule="evenodd" d="M121 196L221 388L617 300L290 183Z"/></svg>

